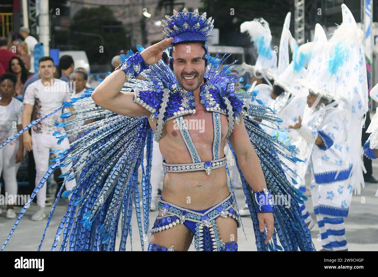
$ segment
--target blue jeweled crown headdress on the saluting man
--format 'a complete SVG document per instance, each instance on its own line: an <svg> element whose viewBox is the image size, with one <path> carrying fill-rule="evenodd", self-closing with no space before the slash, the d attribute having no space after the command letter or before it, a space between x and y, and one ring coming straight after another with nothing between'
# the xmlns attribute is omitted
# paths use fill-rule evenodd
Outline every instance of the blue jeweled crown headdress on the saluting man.
<svg viewBox="0 0 378 277"><path fill-rule="evenodd" d="M172 44L183 41L207 41L211 37L209 33L212 31L214 19L211 17L206 19L206 12L202 15L198 13L198 9L189 12L186 8L182 12L173 10L173 15L166 15L167 20L162 20L164 34L173 37Z"/></svg>

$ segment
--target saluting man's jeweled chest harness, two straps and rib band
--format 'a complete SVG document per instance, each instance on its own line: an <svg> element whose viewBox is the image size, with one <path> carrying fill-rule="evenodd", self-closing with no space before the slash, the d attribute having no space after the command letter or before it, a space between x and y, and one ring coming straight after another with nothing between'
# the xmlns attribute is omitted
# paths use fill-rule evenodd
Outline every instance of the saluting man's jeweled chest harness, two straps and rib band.
<svg viewBox="0 0 378 277"><path fill-rule="evenodd" d="M211 170L214 168L219 168L226 165L226 156L219 158L220 145L222 142L222 124L220 120L220 113L212 112L212 123L214 130L214 139L212 144L212 161L202 161L200 155L198 154L197 148L195 147L191 135L189 134L188 127L183 119L183 116L178 116L175 118L178 129L180 130L181 136L185 142L186 148L192 158L192 162L189 164L167 164L163 161L163 168L167 172L188 172L188 171L198 171L205 170L206 173L210 174Z"/></svg>

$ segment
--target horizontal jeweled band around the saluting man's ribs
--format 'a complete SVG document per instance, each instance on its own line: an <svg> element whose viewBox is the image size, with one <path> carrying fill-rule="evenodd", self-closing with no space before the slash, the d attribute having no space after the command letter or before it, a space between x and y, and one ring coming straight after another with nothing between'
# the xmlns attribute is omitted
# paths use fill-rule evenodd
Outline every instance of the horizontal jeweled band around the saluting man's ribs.
<svg viewBox="0 0 378 277"><path fill-rule="evenodd" d="M167 172L188 172L188 171L197 171L205 170L210 174L211 170L214 168L223 167L226 165L227 159L226 156L222 159L217 159L214 161L208 162L194 162L190 164L167 164L163 161L163 168Z"/></svg>

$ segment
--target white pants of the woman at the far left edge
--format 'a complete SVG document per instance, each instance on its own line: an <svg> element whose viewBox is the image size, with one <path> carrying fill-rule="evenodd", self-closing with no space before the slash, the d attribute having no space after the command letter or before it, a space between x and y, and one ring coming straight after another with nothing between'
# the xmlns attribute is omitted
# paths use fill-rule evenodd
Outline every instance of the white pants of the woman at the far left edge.
<svg viewBox="0 0 378 277"><path fill-rule="evenodd" d="M19 151L19 140L15 139L0 149L0 175L3 173L7 205L13 205L14 199L17 199L17 170L21 162L16 163L16 154ZM0 187L1 192L1 187ZM11 196L11 197L9 197Z"/></svg>

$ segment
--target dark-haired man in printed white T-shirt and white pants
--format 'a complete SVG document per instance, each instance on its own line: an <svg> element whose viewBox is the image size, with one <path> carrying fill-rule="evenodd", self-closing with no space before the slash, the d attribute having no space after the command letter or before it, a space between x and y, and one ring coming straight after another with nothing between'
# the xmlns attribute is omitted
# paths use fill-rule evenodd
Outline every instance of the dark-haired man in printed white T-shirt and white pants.
<svg viewBox="0 0 378 277"><path fill-rule="evenodd" d="M51 57L40 58L38 72L41 79L31 83L25 91L22 127L28 125L31 120L41 118L58 109L64 101L70 101L68 84L53 78L55 70ZM69 109L74 112L73 107ZM33 118L31 118L32 114ZM64 132L64 129L56 127L54 122L62 122L59 112L33 126L31 136L29 132L23 133L24 147L28 151L33 150L34 160L36 161L36 186L48 168L49 151L62 149L69 144L67 138L64 138L59 145L57 144L58 140L53 136L53 133L55 131ZM61 167L62 173L67 172L70 167L71 165ZM74 185L76 185L76 180L65 182L67 190L71 190ZM33 214L32 220L37 221L45 218L45 200L46 186L43 186L37 193L38 211Z"/></svg>

